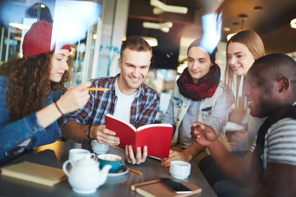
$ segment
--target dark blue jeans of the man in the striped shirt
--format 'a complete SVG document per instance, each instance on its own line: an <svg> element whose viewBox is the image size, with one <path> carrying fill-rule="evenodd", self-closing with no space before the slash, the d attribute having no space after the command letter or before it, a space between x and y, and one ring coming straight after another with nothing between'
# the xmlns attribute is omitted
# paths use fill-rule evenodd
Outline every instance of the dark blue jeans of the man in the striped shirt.
<svg viewBox="0 0 296 197"><path fill-rule="evenodd" d="M244 197L251 194L250 189L241 188L230 180L218 181L214 185L213 190L218 197Z"/></svg>

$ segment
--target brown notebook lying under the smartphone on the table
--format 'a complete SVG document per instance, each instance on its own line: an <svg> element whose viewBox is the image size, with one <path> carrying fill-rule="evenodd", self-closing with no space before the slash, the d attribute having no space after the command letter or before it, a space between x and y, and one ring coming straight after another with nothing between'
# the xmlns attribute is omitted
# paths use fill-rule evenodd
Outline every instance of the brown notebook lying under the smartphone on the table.
<svg viewBox="0 0 296 197"><path fill-rule="evenodd" d="M143 197L189 197L194 194L201 193L201 188L182 180L179 181L183 183L187 188L192 190L192 193L176 194L167 186L165 186L159 179L134 184L131 186L131 190L137 192Z"/></svg>

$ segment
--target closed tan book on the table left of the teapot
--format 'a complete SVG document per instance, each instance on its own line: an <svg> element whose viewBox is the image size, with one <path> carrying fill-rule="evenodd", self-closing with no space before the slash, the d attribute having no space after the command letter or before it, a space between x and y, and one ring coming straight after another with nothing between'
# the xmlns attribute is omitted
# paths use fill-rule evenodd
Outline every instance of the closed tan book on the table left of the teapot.
<svg viewBox="0 0 296 197"><path fill-rule="evenodd" d="M1 168L1 175L50 187L67 179L67 176L62 169L30 162L3 167Z"/></svg>

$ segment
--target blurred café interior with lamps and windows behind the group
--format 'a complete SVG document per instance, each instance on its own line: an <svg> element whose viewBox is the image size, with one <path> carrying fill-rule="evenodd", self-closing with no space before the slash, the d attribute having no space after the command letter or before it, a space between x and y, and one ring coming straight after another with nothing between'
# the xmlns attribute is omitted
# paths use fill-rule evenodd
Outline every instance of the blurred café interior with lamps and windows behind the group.
<svg viewBox="0 0 296 197"><path fill-rule="evenodd" d="M155 4L185 7L166 12ZM187 66L187 47L201 37L222 0L2 0L0 1L0 61L22 57L22 39L37 20L67 31L72 86L120 72L121 41L131 35L149 40L153 56L145 81L160 95L156 122L165 113L174 83ZM172 11L172 10L171 10ZM174 11L174 10L173 10ZM183 13L182 13L183 12ZM293 21L293 19L295 19ZM230 0L221 20L216 63L225 69L227 35L251 29L259 33L268 53L296 60L296 0ZM208 31L209 33L209 31ZM230 118L231 115L229 115ZM229 120L230 122L231 120ZM243 122L238 123L244 130Z"/></svg>

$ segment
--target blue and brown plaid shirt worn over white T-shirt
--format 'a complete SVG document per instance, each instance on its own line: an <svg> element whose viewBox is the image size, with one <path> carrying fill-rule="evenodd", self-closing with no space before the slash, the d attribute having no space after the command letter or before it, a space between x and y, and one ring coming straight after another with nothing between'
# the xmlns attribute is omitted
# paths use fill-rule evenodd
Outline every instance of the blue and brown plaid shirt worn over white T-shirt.
<svg viewBox="0 0 296 197"><path fill-rule="evenodd" d="M117 101L115 79L118 76L119 74L115 77L92 79L92 88L109 88L109 91L90 91L88 102L81 109L68 113L64 118L62 128L69 121L75 121L82 125L105 125L105 115L108 113L113 115L114 113ZM153 124L158 104L157 92L142 83L131 106L130 124L136 128Z"/></svg>

